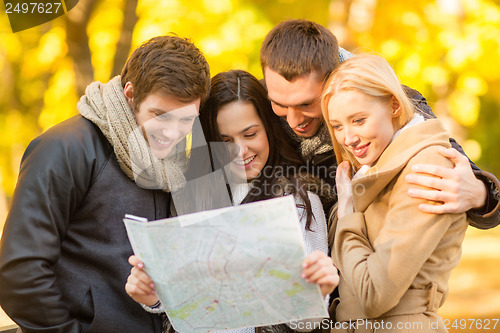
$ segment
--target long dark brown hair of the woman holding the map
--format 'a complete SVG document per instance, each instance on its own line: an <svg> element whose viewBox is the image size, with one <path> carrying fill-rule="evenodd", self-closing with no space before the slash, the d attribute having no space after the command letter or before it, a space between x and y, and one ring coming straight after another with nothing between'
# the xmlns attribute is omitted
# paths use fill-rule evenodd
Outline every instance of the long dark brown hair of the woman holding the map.
<svg viewBox="0 0 500 333"><path fill-rule="evenodd" d="M252 181L253 186L242 203L265 200L284 193L297 194L304 202L302 207L307 214L306 228L309 229L312 210L307 196L307 185L302 182L300 175L296 174L303 162L283 135L280 119L272 111L265 88L252 74L231 70L212 78L210 96L200 109L200 121L207 142L223 141L217 126L217 114L221 107L235 101L250 102L254 105L269 141L267 163L259 176ZM276 188L281 191L276 193Z"/></svg>

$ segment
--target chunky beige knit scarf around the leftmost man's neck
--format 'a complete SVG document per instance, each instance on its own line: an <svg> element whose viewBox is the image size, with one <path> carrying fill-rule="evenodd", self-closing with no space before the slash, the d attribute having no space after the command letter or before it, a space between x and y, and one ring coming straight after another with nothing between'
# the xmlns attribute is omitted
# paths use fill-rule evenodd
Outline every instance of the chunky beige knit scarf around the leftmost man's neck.
<svg viewBox="0 0 500 333"><path fill-rule="evenodd" d="M123 94L120 76L108 83L91 83L77 106L83 117L99 127L113 146L121 169L138 186L166 192L184 186L185 140L167 158L156 158Z"/></svg>

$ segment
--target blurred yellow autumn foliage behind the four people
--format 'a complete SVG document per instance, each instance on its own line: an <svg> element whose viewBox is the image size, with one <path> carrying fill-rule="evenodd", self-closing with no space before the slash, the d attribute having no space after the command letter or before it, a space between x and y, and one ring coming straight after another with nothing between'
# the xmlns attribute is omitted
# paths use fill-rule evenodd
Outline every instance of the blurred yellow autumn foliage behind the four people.
<svg viewBox="0 0 500 333"><path fill-rule="evenodd" d="M500 176L498 1L80 0L15 34L0 14L0 223L28 143L76 114L86 85L119 74L141 42L175 32L198 45L212 75L241 68L260 78L260 44L288 18L323 24L351 52L386 57L469 157Z"/></svg>

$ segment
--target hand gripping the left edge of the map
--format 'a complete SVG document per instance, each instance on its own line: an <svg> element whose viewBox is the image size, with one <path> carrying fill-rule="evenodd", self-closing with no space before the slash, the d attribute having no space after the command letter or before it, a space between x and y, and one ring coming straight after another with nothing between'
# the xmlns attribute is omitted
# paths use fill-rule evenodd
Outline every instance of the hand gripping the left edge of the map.
<svg viewBox="0 0 500 333"><path fill-rule="evenodd" d="M137 303L142 303L148 306L158 302L158 296L154 290L155 285L149 275L143 271L144 263L136 256L128 258L129 264L132 266L130 275L125 284L125 291Z"/></svg>

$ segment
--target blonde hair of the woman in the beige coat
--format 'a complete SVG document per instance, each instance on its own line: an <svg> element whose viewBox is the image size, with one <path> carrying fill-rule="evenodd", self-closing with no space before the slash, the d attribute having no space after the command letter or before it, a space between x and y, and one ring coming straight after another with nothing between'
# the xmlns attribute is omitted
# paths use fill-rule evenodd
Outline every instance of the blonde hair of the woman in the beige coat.
<svg viewBox="0 0 500 333"><path fill-rule="evenodd" d="M373 54L359 54L341 63L328 77L321 96L323 118L332 138L337 164L349 161L355 170L360 164L354 156L337 142L329 122L328 103L332 97L345 90L356 90L368 96L399 103L400 111L395 117L395 130L406 125L412 118L415 107L401 87L396 73L382 57Z"/></svg>

